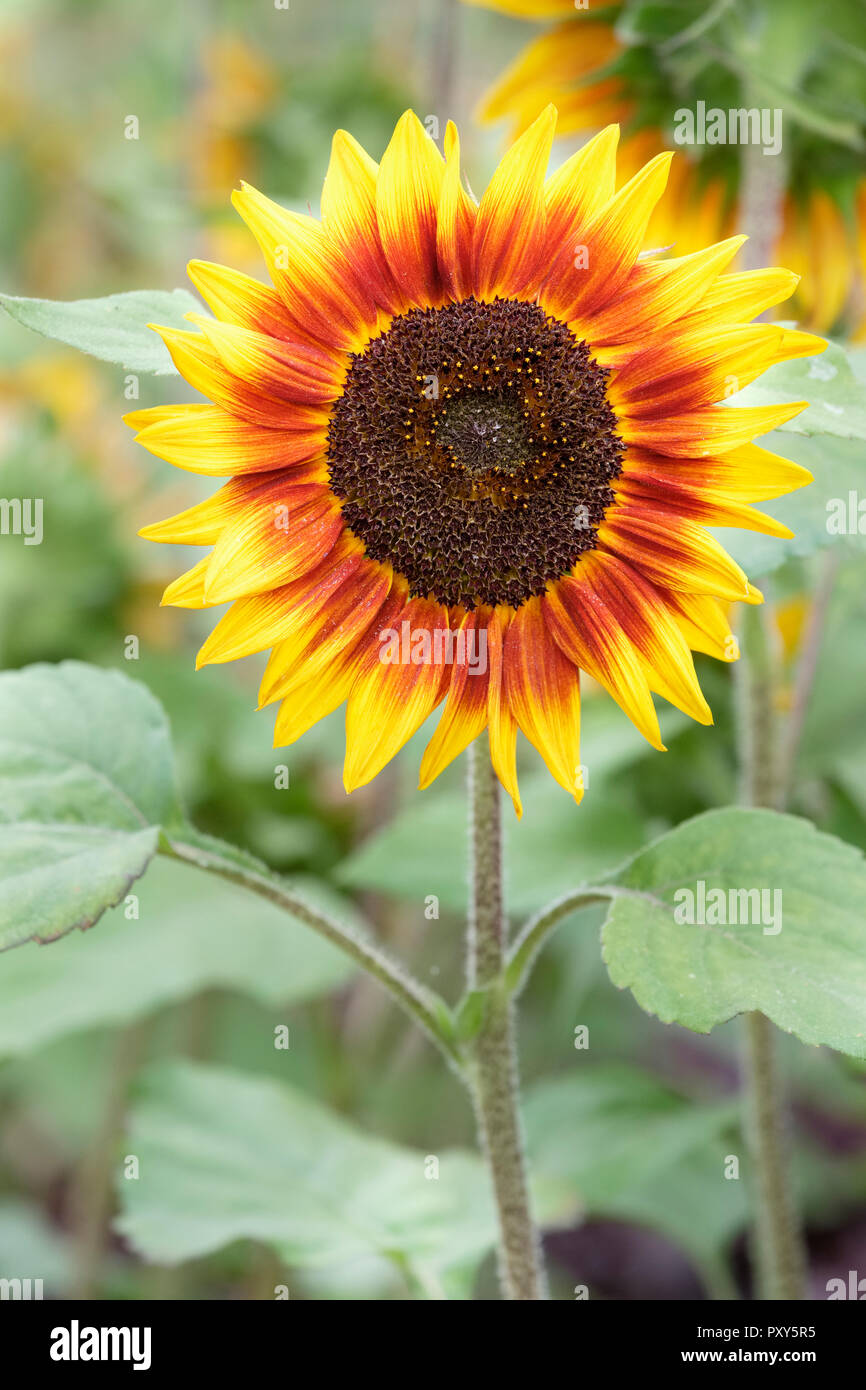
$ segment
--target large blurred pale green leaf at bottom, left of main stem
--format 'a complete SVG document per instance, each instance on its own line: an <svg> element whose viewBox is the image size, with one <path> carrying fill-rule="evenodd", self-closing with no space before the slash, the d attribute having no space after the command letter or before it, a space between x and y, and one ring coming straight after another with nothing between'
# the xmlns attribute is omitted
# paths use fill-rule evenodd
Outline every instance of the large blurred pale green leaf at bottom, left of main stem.
<svg viewBox="0 0 866 1390"><path fill-rule="evenodd" d="M468 1295L491 1248L488 1179L473 1154L427 1155L371 1138L288 1086L189 1062L138 1083L120 1179L120 1232L147 1259L177 1264L261 1240L289 1266L348 1268L375 1257L427 1297ZM430 1172L430 1168L427 1169Z"/></svg>

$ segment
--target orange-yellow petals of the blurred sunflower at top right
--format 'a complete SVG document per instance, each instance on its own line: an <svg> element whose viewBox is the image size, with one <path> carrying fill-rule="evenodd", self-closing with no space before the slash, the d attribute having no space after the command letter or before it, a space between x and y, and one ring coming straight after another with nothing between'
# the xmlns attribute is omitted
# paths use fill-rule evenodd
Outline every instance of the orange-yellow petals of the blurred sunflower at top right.
<svg viewBox="0 0 866 1390"><path fill-rule="evenodd" d="M669 138L664 126L671 121L674 106L694 107L692 97L705 99L708 92L708 106L744 104L741 96L724 85L724 74L716 71L708 76L701 65L699 82L691 90L691 72L674 76L666 63L653 56L651 46L637 40L632 46L621 42L616 26L617 22L621 26L623 7L607 7L605 14L592 15L575 7L574 0L463 3L518 19L559 21L530 40L480 106L478 114L485 122L507 118L512 138L521 135L542 107L552 101L560 113L559 135L587 135L609 121L623 122L627 138L620 147L620 167L632 172L666 149ZM717 18L721 19L721 15L719 8ZM853 22L856 35L862 19L855 14ZM842 39L838 39L841 51ZM687 50L681 47L678 51ZM853 42L848 54L856 58ZM847 63L851 61L847 57ZM828 81L844 86L838 53L835 63ZM860 56L853 67L859 108L866 96L862 72ZM717 101L712 97L714 86ZM676 100L673 92L677 93ZM848 107L853 108L853 97ZM803 135L796 125L785 132L790 188L780 210L774 256L801 274L794 310L801 322L816 332L830 332L851 310L856 314L858 297L863 297L863 265L851 215L853 178L844 175L852 161L855 174L860 170L862 135L852 154ZM740 167L730 150L714 146L698 154L691 147L688 157L671 171L671 182L676 185L670 190L674 196L660 204L651 218L646 246L673 246L684 254L708 240L727 236L731 227L741 221Z"/></svg>

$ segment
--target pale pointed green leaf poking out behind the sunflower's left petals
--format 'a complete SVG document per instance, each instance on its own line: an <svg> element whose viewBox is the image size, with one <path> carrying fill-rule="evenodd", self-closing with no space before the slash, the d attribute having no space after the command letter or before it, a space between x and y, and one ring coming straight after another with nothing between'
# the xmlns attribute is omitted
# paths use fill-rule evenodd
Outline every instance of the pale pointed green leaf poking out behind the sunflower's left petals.
<svg viewBox="0 0 866 1390"><path fill-rule="evenodd" d="M0 306L25 328L78 348L128 371L177 375L163 339L147 324L189 328L185 314L202 313L186 289L135 289L104 299L19 299L0 295Z"/></svg>

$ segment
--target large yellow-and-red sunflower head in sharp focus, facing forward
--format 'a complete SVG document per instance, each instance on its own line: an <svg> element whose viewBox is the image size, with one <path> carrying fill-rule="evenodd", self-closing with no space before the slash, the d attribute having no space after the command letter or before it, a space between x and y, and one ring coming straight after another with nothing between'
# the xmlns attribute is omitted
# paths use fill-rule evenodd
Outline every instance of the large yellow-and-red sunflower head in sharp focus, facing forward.
<svg viewBox="0 0 866 1390"><path fill-rule="evenodd" d="M480 203L411 111L378 165L336 133L321 220L243 186L272 288L193 261L214 317L158 332L213 403L126 417L229 480L142 531L210 548L164 595L231 603L199 666L270 649L277 746L346 701L348 791L443 703L423 787L488 728L520 813L520 728L580 799L581 671L655 748L653 691L712 723L691 653L734 659L724 605L760 595L705 528L788 535L749 503L809 481L751 443L801 404L726 400L824 346L748 322L796 277L724 274L738 236L641 257L671 156L614 193L610 126L546 178L555 125Z"/></svg>

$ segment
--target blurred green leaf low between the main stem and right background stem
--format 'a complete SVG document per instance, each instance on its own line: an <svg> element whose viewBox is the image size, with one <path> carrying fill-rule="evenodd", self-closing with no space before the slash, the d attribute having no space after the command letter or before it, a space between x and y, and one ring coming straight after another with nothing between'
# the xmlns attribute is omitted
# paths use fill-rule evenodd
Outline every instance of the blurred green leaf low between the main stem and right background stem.
<svg viewBox="0 0 866 1390"><path fill-rule="evenodd" d="M570 1188L587 1216L652 1226L717 1269L746 1215L742 1183L724 1182L734 1108L695 1105L637 1068L582 1058L527 1095L531 1166Z"/></svg>

